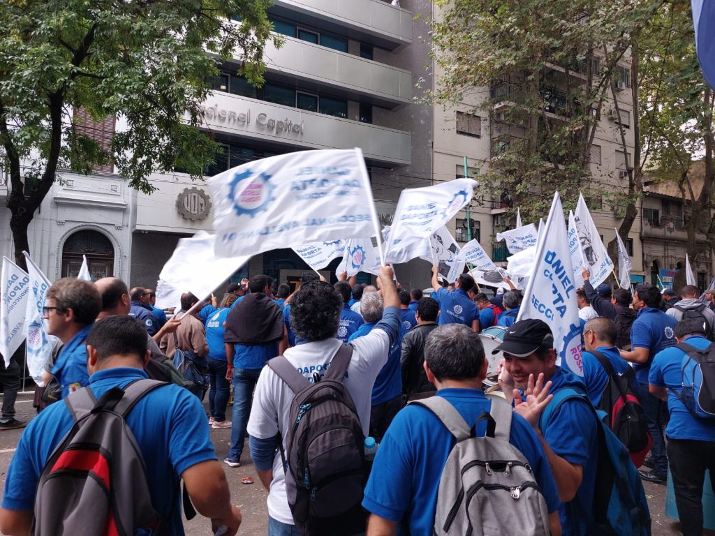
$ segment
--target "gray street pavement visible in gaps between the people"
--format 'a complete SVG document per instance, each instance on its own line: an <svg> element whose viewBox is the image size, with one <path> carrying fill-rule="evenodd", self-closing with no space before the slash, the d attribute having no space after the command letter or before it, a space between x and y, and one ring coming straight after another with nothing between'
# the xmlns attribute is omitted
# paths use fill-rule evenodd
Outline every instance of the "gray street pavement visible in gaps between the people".
<svg viewBox="0 0 715 536"><path fill-rule="evenodd" d="M207 399L204 405L207 405ZM19 420L30 420L35 415L32 407L31 394L20 394L16 403L16 418ZM228 408L227 418L230 419L231 407ZM5 475L12 459L13 452L23 429L6 430L0 432L0 492L5 488ZM241 467L232 468L223 463L223 459L229 449L231 440L231 430L210 430L211 439L216 448L216 455L221 461L226 472L230 487L232 502L241 507L243 522L239 530L242 535L265 535L267 527L267 509L265 505L267 492L258 480L253 464L248 453L248 445L245 446L241 458ZM245 485L241 483L242 477L252 477L254 484ZM679 535L679 523L665 516L666 487L651 482L644 482L646 496L651 508L653 517L653 535L671 536ZM210 535L211 525L209 520L201 515L197 515L193 520L184 520L184 527L187 535ZM706 530L706 536L715 536L715 531Z"/></svg>

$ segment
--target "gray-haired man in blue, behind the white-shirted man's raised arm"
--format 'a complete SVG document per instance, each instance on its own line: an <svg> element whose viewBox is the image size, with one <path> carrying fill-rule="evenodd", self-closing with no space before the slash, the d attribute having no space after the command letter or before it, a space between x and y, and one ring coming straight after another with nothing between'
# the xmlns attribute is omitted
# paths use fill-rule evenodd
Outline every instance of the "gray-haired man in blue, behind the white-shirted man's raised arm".
<svg viewBox="0 0 715 536"><path fill-rule="evenodd" d="M360 314L363 315L365 324L358 327L358 331L350 335L347 342L352 342L359 337L365 337L373 330L375 324L383 319L383 297L379 292L363 294L360 300ZM400 355L405 327L400 326L400 335L390 345L388 362L380 370L375 385L373 386L372 408L370 410L370 435L375 441L380 439L388 430L390 422L402 409L402 372Z"/></svg>

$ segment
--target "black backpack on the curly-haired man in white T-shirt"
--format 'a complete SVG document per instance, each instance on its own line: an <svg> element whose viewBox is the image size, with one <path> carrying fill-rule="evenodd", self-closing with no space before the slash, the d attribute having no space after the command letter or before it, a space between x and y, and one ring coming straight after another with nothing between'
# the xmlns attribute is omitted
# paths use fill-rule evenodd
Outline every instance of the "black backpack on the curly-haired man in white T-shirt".
<svg viewBox="0 0 715 536"><path fill-rule="evenodd" d="M304 536L350 535L365 531L360 503L367 464L365 435L350 393L342 383L352 357L343 345L322 378L310 383L281 356L268 366L295 394L290 430L278 445L293 521Z"/></svg>

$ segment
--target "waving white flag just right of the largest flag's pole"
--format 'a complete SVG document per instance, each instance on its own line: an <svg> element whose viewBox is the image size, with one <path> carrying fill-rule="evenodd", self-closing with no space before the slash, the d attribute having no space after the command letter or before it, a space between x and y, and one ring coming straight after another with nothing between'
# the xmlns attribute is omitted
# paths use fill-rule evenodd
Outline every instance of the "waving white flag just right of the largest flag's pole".
<svg viewBox="0 0 715 536"><path fill-rule="evenodd" d="M398 251L402 242L408 244L418 237L427 239L435 234L470 202L476 184L472 179L455 179L403 190L385 251Z"/></svg>

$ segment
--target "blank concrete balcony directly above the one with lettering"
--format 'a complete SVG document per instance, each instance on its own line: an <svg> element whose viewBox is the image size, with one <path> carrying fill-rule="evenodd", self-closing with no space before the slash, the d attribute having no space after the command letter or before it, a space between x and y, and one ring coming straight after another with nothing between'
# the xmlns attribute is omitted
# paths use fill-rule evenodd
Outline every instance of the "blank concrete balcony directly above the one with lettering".
<svg viewBox="0 0 715 536"><path fill-rule="evenodd" d="M378 2L382 4L382 2ZM390 6L388 6L390 7ZM339 91L360 101L393 108L412 101L412 74L377 61L285 37L280 49L266 49L268 71Z"/></svg>

